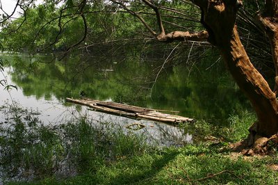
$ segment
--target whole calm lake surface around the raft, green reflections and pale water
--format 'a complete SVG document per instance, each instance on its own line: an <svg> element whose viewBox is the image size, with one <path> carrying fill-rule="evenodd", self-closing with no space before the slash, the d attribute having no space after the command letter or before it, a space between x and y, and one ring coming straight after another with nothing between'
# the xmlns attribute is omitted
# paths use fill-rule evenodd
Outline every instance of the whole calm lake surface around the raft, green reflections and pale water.
<svg viewBox="0 0 278 185"><path fill-rule="evenodd" d="M179 111L179 115L211 124L228 124L230 115L250 109L218 56L204 58L195 65L183 62L163 65L161 60L142 60L136 56L108 60L76 55L57 61L47 55L1 54L1 58L10 65L0 79L5 77L18 88L7 91L2 87L0 104L17 102L45 124L89 115L95 120L123 125L140 122L147 125L144 131L152 136L158 134L157 130L168 130L183 141L190 140L189 135L166 124L97 113L65 103L66 97L78 98L81 92L92 99ZM5 122L4 114L2 111L0 122Z"/></svg>

